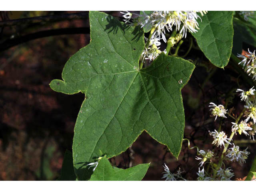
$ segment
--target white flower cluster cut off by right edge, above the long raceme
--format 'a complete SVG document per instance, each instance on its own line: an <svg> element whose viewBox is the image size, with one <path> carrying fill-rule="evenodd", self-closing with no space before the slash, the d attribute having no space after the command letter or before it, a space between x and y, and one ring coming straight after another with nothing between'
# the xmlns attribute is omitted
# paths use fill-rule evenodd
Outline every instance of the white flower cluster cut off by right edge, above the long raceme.
<svg viewBox="0 0 256 192"><path fill-rule="evenodd" d="M250 52L248 49L249 54L240 55L237 56L239 58L242 58L242 61L238 64L242 64L244 71L252 77L252 80L256 80L256 57L255 57L255 50L254 52Z"/></svg>

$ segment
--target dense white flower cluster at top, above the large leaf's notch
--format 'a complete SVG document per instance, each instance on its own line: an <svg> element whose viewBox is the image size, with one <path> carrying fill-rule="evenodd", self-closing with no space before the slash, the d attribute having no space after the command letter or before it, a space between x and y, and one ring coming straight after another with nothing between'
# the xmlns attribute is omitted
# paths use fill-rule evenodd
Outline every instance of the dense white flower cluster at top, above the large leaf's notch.
<svg viewBox="0 0 256 192"><path fill-rule="evenodd" d="M146 42L150 42L143 51L140 60L148 59L152 61L162 52L158 47L161 44L160 40L167 42L166 32L173 30L178 32L175 37L170 38L172 46L181 38L186 38L187 31L191 33L197 32L197 29L199 29L197 19L201 19L198 12L202 16L207 13L207 11L153 11L150 15L145 12L142 12L142 14L128 11L120 13L123 14L123 21L126 24L151 29L152 36L150 39L145 38ZM135 18L132 19L133 15Z"/></svg>

